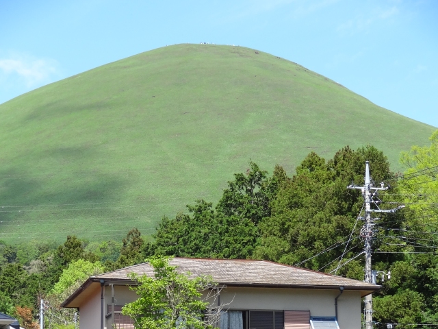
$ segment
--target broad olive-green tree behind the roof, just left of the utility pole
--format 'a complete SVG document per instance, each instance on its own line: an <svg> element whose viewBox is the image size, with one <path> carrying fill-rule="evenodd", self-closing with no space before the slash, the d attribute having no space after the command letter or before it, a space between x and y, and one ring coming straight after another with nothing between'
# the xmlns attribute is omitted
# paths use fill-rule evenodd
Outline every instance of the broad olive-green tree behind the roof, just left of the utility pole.
<svg viewBox="0 0 438 329"><path fill-rule="evenodd" d="M344 147L327 162L311 152L296 168L296 175L280 185L271 202L272 215L259 225L261 239L255 256L316 270L337 266L331 261L342 254L342 243L355 226L363 205L359 191L346 186L363 184L365 160L370 161L376 182L392 178L387 158L372 146L356 151ZM359 228L360 224L346 259L361 252ZM359 260L352 261L340 273L363 279L361 267Z"/></svg>

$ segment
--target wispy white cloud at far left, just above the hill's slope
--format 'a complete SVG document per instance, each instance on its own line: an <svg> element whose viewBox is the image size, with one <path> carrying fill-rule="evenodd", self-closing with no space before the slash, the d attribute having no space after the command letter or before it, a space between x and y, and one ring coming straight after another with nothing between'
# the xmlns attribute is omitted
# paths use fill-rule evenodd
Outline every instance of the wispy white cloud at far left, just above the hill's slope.
<svg viewBox="0 0 438 329"><path fill-rule="evenodd" d="M0 74L5 76L18 75L27 87L49 82L51 76L57 73L57 63L54 60L36 59L29 56L9 56L0 58Z"/></svg>

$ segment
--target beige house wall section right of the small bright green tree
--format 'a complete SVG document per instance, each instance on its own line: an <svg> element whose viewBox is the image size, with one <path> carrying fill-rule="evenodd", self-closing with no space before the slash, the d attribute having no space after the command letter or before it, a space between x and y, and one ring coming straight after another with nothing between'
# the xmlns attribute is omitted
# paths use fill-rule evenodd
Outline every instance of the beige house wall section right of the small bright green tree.
<svg viewBox="0 0 438 329"><path fill-rule="evenodd" d="M311 317L334 317L337 290L227 287L220 302L235 310L309 310ZM361 295L344 291L337 300L339 328L361 329Z"/></svg>

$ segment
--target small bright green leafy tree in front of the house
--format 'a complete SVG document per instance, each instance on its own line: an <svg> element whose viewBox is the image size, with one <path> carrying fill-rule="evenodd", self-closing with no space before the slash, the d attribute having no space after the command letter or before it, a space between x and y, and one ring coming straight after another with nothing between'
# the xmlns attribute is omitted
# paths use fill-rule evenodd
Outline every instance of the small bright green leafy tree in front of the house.
<svg viewBox="0 0 438 329"><path fill-rule="evenodd" d="M123 314L134 319L135 327L213 329L217 317L205 316L211 314L209 302L202 300L202 292L211 291L215 285L211 278L190 278L190 273L178 273L168 264L168 258L151 258L149 262L154 278L131 276L138 281L133 290L139 298L123 307Z"/></svg>

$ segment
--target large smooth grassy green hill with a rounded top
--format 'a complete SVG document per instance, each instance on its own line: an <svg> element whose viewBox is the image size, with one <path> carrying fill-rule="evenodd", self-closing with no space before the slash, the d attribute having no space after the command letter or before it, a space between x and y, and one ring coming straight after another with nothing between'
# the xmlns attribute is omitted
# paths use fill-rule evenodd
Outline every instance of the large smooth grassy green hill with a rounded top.
<svg viewBox="0 0 438 329"><path fill-rule="evenodd" d="M268 53L147 51L0 105L0 240L148 234L249 160L291 174L311 150L372 143L398 169L434 129Z"/></svg>

